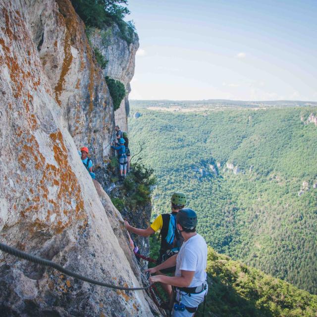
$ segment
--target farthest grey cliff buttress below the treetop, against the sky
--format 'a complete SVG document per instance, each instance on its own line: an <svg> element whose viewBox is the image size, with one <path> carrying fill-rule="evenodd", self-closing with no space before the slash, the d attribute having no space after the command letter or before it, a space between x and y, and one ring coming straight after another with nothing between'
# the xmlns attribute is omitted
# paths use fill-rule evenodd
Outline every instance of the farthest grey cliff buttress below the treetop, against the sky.
<svg viewBox="0 0 317 317"><path fill-rule="evenodd" d="M135 53L139 48L136 33L128 44L116 24L104 30L95 30L90 36L91 43L105 56L107 62L104 75L119 80L125 86L127 95L114 113L115 123L122 131L128 131L127 116L129 114L128 94L131 92L130 81L134 75Z"/></svg>

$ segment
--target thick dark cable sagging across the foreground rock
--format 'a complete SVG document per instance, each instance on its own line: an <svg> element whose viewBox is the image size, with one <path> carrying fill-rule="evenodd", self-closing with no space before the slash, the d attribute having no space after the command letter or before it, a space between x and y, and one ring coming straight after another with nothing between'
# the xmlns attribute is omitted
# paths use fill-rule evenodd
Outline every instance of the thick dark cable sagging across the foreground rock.
<svg viewBox="0 0 317 317"><path fill-rule="evenodd" d="M43 265L43 266L49 266L49 267L53 267L54 269L64 273L65 275L69 275L69 276L72 276L72 277L75 277L75 278L78 278L82 281L85 281L85 282L88 282L88 283L92 283L92 284L95 284L95 285L100 285L100 286L104 286L104 287L109 287L109 288L113 288L113 289L120 289L120 290L124 290L124 291L138 291L138 290L143 290L143 289L148 289L151 287L151 285L148 285L146 287L122 287L122 286L116 286L116 285L112 285L112 284L108 284L108 283L104 283L104 282L100 282L100 281L96 281L94 279L91 279L89 277L86 277L86 276L83 276L83 275L80 275L78 273L75 273L71 270L68 270L67 268L64 268L62 267L61 265L57 264L57 263L54 263L52 261L49 261L49 260L45 260L45 259L42 259L42 258L38 258L36 256L32 256L30 254L27 254L23 251L20 251L20 250L17 250L15 248L12 248L12 247L9 247L3 243L0 243L0 250L5 252L5 253L8 253L8 254L11 254L17 258L20 258L20 259L24 259L24 260L27 260L27 261L30 261L30 262L33 262L33 263L36 263L36 264L40 264L40 265Z"/></svg>

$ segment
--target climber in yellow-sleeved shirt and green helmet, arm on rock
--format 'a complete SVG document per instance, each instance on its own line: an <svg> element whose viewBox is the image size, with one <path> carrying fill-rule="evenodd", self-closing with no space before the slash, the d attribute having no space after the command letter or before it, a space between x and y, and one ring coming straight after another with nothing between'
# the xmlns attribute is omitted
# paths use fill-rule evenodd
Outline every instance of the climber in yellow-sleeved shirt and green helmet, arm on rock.
<svg viewBox="0 0 317 317"><path fill-rule="evenodd" d="M183 209L186 205L186 195L182 192L175 192L171 197L171 213L159 214L153 223L146 229L139 229L131 226L126 220L125 226L128 231L133 232L142 237L149 237L158 230L160 230L160 250L158 264L166 261L171 256L178 253L183 238L177 231L176 214L179 210ZM168 267L158 271L158 274L174 273L175 266ZM164 290L171 294L172 287L167 284L162 284Z"/></svg>

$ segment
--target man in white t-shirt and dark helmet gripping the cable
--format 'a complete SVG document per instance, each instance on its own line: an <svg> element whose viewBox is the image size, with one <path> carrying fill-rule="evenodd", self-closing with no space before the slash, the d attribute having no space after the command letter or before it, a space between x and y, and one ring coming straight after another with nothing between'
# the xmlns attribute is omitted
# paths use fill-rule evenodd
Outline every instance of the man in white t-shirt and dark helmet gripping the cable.
<svg viewBox="0 0 317 317"><path fill-rule="evenodd" d="M195 211L183 208L177 212L176 220L177 229L184 238L178 254L147 271L155 273L176 264L175 276L155 275L150 277L150 282L175 286L176 298L172 316L191 317L208 292L207 244L204 238L196 232L197 214Z"/></svg>

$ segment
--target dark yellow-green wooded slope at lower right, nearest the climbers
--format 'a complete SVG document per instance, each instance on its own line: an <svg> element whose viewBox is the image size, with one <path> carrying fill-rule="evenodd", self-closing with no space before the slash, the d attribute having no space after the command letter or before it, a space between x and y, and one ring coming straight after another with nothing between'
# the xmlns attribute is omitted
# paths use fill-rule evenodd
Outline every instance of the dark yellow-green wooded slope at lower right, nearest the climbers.
<svg viewBox="0 0 317 317"><path fill-rule="evenodd" d="M208 251L206 316L212 317L316 317L317 296ZM203 305L197 317L203 316ZM195 316L196 316L195 315Z"/></svg>

